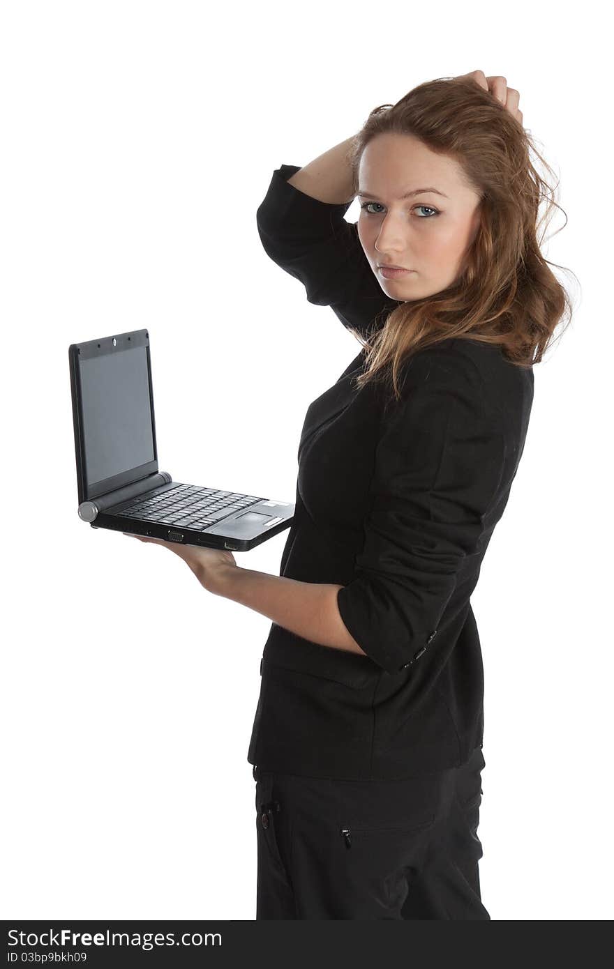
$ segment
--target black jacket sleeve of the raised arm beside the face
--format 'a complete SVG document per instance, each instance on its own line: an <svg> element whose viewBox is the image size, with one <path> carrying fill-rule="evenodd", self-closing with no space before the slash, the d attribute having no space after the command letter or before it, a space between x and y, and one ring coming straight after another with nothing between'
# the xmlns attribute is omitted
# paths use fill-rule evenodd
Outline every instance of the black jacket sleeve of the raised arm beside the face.
<svg viewBox="0 0 614 969"><path fill-rule="evenodd" d="M367 335L379 312L399 302L386 296L373 275L356 223L343 218L351 202L320 202L289 185L300 168L275 169L256 211L265 252L303 283L308 302L331 306L343 326ZM382 324L383 319L375 328Z"/></svg>

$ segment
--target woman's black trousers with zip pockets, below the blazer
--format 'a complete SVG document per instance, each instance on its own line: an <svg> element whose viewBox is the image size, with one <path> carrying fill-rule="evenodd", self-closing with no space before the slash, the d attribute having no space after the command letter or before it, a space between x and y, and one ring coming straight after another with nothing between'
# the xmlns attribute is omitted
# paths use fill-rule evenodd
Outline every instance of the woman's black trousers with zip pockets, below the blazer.
<svg viewBox="0 0 614 969"><path fill-rule="evenodd" d="M480 898L480 747L467 764L347 781L253 767L256 919L490 920Z"/></svg>

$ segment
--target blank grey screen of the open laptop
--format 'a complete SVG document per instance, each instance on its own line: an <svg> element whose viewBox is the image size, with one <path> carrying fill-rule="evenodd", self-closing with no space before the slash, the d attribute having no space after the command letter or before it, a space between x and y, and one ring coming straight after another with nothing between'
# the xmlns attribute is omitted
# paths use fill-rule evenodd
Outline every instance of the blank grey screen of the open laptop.
<svg viewBox="0 0 614 969"><path fill-rule="evenodd" d="M88 491L154 460L146 346L80 359Z"/></svg>

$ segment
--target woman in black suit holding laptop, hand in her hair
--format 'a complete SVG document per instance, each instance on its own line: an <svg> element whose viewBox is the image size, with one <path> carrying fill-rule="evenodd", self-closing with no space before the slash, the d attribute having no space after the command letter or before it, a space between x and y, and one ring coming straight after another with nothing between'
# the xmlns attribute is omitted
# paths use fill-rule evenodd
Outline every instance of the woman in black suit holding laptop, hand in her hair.
<svg viewBox="0 0 614 969"><path fill-rule="evenodd" d="M257 919L490 919L469 597L567 305L518 98L479 71L437 79L275 170L264 248L362 350L307 410L278 577L140 539L273 620L248 752Z"/></svg>

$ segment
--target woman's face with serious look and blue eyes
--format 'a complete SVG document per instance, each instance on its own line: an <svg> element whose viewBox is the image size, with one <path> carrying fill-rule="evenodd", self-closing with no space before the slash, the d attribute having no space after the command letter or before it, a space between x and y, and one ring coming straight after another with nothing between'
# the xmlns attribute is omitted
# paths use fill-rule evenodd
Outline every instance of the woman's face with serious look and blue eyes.
<svg viewBox="0 0 614 969"><path fill-rule="evenodd" d="M363 151L358 187L358 235L384 293L408 301L456 281L480 223L480 197L457 162L413 136L377 135ZM411 271L387 279L381 264Z"/></svg>

